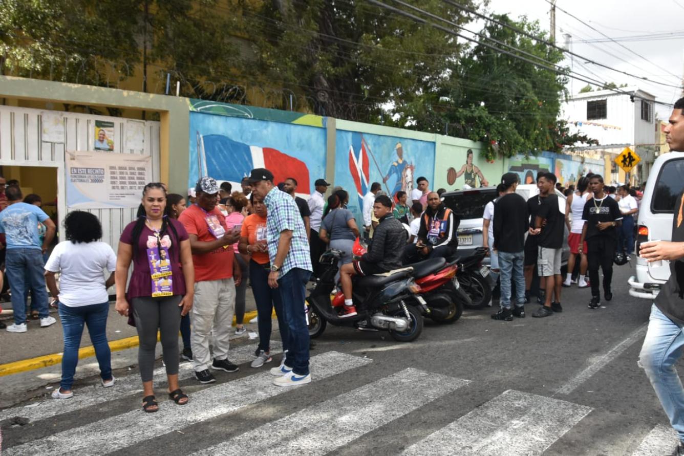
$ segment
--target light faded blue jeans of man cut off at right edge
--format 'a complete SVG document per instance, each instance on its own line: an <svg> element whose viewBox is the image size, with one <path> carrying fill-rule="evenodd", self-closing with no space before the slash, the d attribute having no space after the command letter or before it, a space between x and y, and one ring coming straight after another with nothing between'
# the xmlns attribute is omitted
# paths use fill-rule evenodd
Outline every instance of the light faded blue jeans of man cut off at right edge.
<svg viewBox="0 0 684 456"><path fill-rule="evenodd" d="M639 364L646 371L670 424L679 434L679 440L684 441L684 388L674 368L682 356L682 347L682 327L653 304Z"/></svg>

